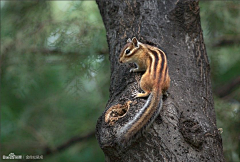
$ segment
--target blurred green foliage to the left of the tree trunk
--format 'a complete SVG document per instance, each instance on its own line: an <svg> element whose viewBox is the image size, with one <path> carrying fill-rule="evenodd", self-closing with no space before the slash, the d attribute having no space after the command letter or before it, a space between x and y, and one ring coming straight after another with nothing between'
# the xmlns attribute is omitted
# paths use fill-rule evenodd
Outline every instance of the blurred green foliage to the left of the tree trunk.
<svg viewBox="0 0 240 162"><path fill-rule="evenodd" d="M1 154L41 155L94 131L109 87L96 3L9 1L1 9ZM104 161L95 138L44 159Z"/></svg>

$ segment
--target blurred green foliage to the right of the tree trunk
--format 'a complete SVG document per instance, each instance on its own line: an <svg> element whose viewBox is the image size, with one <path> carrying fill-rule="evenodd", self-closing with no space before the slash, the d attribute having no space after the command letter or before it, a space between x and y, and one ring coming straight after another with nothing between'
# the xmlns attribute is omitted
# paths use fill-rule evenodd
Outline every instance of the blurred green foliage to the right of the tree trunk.
<svg viewBox="0 0 240 162"><path fill-rule="evenodd" d="M201 1L201 23L211 62L217 126L223 129L224 155L229 162L240 161L240 86L227 96L216 93L239 77L240 3Z"/></svg>

